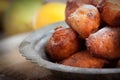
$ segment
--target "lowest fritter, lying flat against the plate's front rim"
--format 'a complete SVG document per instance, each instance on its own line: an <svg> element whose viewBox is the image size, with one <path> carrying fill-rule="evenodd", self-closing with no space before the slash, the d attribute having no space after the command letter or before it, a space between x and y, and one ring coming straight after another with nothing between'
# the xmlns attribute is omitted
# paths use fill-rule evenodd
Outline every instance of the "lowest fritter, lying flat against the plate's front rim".
<svg viewBox="0 0 120 80"><path fill-rule="evenodd" d="M104 59L93 57L88 51L77 52L62 62L63 65L80 68L102 68L107 63Z"/></svg>

